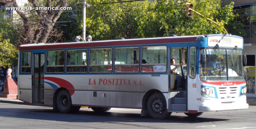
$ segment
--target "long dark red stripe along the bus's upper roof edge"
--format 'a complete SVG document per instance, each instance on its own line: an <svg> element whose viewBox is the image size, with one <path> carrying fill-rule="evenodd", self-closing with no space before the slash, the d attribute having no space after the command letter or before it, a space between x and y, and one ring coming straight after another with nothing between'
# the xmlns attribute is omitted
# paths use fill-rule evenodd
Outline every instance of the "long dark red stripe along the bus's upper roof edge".
<svg viewBox="0 0 256 129"><path fill-rule="evenodd" d="M73 43L56 43L45 45L21 45L19 50L40 50L40 49L61 49L61 48L80 48L80 47L104 47L104 46L120 46L120 45L142 45L142 44L161 44L161 43L188 43L197 42L196 37L181 38L155 38L155 39L134 39L134 40L118 40L118 41L99 41L99 42L73 42Z"/></svg>

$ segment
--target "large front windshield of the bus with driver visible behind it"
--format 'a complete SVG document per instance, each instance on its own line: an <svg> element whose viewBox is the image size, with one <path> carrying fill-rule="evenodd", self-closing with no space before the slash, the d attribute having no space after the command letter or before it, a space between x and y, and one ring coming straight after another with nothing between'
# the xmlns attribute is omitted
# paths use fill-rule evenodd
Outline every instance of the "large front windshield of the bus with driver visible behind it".
<svg viewBox="0 0 256 129"><path fill-rule="evenodd" d="M243 80L242 50L201 49L202 81Z"/></svg>

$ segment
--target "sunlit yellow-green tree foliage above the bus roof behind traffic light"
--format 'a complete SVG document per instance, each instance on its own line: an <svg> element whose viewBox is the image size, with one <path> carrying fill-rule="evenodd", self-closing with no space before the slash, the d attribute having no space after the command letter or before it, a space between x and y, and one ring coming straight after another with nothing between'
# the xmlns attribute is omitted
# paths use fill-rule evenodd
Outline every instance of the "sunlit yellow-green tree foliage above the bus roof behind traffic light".
<svg viewBox="0 0 256 129"><path fill-rule="evenodd" d="M112 0L117 2L119 0ZM212 0L155 0L155 2L137 1L112 4L109 0L87 0L90 6L86 8L86 35L93 40L124 38L161 37L169 34L178 36L229 33L244 35L242 24L234 22L238 15L233 14L233 3L221 8L221 1ZM183 8L190 2L194 10L216 21L217 26L206 18L193 13L186 17ZM68 26L68 40L82 34L82 3L70 0L69 6L75 7L74 20Z"/></svg>

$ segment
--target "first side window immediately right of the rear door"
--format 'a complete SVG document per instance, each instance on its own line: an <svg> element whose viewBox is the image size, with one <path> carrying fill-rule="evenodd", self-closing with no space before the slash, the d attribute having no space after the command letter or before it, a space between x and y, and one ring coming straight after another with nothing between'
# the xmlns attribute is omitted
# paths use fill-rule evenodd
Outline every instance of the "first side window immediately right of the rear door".
<svg viewBox="0 0 256 129"><path fill-rule="evenodd" d="M63 73L65 51L47 51L46 72Z"/></svg>

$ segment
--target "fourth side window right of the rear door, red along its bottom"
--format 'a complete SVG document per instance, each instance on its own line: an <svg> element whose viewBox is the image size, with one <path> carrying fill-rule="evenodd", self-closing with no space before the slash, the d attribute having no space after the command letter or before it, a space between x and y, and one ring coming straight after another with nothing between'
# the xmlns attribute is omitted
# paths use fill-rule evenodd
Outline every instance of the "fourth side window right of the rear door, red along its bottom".
<svg viewBox="0 0 256 129"><path fill-rule="evenodd" d="M115 72L139 72L139 47L115 48Z"/></svg>

